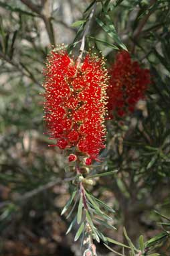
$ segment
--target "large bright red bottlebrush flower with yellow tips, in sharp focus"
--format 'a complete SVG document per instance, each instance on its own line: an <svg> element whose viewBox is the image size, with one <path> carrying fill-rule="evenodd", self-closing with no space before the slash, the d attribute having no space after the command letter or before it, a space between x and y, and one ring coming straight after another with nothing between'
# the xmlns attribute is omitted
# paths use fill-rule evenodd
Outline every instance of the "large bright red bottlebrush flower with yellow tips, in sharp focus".
<svg viewBox="0 0 170 256"><path fill-rule="evenodd" d="M104 148L107 70L103 58L86 54L82 63L65 50L53 50L45 70L45 119L60 149L97 159ZM71 155L69 161L76 157Z"/></svg>

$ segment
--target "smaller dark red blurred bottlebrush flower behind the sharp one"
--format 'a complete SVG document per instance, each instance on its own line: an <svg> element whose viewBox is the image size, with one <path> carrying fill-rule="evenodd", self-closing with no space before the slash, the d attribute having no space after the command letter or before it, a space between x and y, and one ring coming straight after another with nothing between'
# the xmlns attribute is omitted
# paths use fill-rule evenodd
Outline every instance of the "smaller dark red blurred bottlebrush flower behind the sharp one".
<svg viewBox="0 0 170 256"><path fill-rule="evenodd" d="M133 113L140 99L145 99L145 92L151 82L148 69L143 69L137 61L133 62L129 52L122 51L116 55L110 67L108 94L108 114L120 117Z"/></svg>

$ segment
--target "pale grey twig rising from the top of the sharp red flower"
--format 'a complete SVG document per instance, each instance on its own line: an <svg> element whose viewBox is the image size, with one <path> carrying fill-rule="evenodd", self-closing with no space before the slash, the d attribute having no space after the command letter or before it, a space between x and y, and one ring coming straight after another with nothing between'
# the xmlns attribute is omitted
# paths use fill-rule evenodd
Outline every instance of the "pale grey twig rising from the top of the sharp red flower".
<svg viewBox="0 0 170 256"><path fill-rule="evenodd" d="M84 29L84 33L82 35L82 44L80 46L80 55L78 56L78 60L77 60L77 64L80 64L81 60L82 60L82 55L83 55L83 52L84 52L84 48L85 48L85 42L86 42L86 36L88 34L88 31L90 29L90 23L92 21L92 18L94 16L94 13L95 13L95 10L96 10L96 1L92 7L92 11L90 12L90 15L89 15L89 18L88 18L88 21L86 22L86 26L85 26L85 29Z"/></svg>

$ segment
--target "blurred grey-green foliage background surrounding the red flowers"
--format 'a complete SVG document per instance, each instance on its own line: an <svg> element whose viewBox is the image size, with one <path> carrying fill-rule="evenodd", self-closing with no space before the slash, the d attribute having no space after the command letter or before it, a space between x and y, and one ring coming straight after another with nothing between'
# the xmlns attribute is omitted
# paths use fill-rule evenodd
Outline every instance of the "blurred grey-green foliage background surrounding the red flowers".
<svg viewBox="0 0 170 256"><path fill-rule="evenodd" d="M106 229L109 237L126 243L126 227L143 247L141 255L169 255L170 3L98 2L86 48L102 51L108 63L127 48L150 68L152 83L133 115L107 121L100 169L118 172L90 190L116 210L112 224L118 230ZM69 198L67 163L59 149L48 148L41 84L51 45L64 43L78 54L91 6L88 0L0 1L1 255L81 255L75 232L65 236L70 221L60 216ZM120 246L112 248L122 253ZM124 253L135 255L132 249ZM116 254L99 245L98 255Z"/></svg>

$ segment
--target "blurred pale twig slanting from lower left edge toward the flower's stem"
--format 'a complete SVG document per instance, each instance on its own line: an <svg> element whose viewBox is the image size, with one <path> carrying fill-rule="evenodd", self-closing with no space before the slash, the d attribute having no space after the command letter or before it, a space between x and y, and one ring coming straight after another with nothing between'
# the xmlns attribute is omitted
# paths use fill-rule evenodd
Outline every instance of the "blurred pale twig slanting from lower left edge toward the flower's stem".
<svg viewBox="0 0 170 256"><path fill-rule="evenodd" d="M0 208L7 206L8 204L12 204L12 203L19 203L19 202L23 202L26 201L27 199L36 196L37 194L44 192L44 190L48 190L49 188L52 188L54 186L56 186L57 184L61 183L61 179L56 179L53 182L48 182L45 185L41 185L38 188L35 188L34 190L31 190L29 192L26 192L25 194L23 194L23 196L18 196L17 198L15 198L13 201L6 201L6 202L2 202L0 203Z"/></svg>

